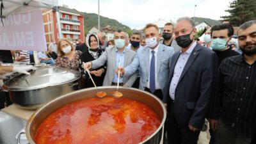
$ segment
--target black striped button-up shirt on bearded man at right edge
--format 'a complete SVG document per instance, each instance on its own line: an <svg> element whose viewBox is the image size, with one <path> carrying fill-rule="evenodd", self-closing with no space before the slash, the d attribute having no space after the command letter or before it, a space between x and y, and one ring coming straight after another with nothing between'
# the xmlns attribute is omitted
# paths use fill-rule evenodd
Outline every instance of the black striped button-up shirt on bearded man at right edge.
<svg viewBox="0 0 256 144"><path fill-rule="evenodd" d="M220 118L241 136L252 136L256 126L256 61L243 55L222 61L210 118Z"/></svg>

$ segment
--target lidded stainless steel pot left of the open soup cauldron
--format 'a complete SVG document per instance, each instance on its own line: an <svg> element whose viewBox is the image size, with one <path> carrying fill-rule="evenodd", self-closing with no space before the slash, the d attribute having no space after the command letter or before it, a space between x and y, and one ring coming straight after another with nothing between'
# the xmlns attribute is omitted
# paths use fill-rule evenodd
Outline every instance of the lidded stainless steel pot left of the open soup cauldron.
<svg viewBox="0 0 256 144"><path fill-rule="evenodd" d="M4 77L10 99L23 109L37 109L46 102L77 90L80 72L63 67L38 67L30 75L12 73Z"/></svg>

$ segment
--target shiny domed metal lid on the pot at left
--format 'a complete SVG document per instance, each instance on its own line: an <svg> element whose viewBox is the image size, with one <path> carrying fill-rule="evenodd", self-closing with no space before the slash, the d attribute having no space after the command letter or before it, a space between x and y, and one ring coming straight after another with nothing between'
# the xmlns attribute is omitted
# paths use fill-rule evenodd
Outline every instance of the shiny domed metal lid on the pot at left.
<svg viewBox="0 0 256 144"><path fill-rule="evenodd" d="M80 72L63 67L38 67L30 75L13 72L3 77L4 84L10 91L25 91L57 86L76 81Z"/></svg>

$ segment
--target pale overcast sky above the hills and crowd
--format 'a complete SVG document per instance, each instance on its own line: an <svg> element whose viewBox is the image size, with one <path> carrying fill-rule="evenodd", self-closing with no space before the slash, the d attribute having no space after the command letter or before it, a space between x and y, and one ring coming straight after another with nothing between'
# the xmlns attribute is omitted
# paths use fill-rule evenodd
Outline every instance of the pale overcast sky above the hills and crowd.
<svg viewBox="0 0 256 144"><path fill-rule="evenodd" d="M116 19L131 29L159 19L176 21L179 17L205 17L220 20L234 0L100 0L100 15ZM80 12L98 13L97 0L58 0ZM196 10L195 10L196 4Z"/></svg>

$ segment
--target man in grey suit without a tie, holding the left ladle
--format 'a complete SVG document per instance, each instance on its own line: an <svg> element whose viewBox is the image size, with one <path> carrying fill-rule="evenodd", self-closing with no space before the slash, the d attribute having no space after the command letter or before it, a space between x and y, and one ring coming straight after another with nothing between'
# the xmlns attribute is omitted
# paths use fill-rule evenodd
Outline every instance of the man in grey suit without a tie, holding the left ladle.
<svg viewBox="0 0 256 144"><path fill-rule="evenodd" d="M103 81L103 86L116 86L117 75L115 69L118 67L120 61L122 67L129 65L134 60L136 52L125 48L125 33L122 30L115 31L114 33L115 47L106 48L105 52L96 60L84 63L85 68L98 68L107 62L107 72ZM137 79L138 72L131 76L120 77L120 86L131 87L134 81Z"/></svg>

